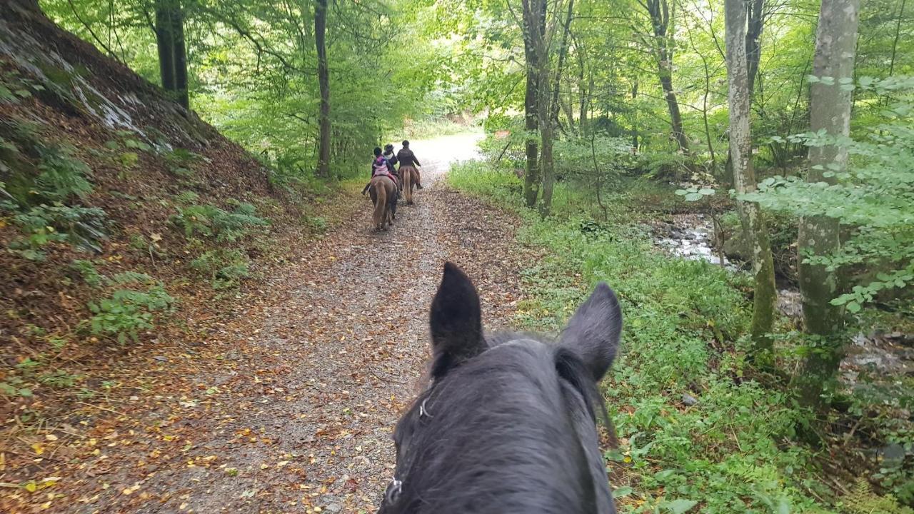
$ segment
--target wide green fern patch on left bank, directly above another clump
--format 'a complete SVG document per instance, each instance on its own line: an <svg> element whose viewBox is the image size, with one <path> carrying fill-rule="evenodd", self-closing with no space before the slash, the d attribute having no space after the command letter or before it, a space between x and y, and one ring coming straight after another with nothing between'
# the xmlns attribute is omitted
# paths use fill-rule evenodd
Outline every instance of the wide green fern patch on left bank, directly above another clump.
<svg viewBox="0 0 914 514"><path fill-rule="evenodd" d="M239 203L231 212L213 205L178 207L172 223L184 230L186 237L205 236L218 242L237 241L253 227L267 225L249 203Z"/></svg>

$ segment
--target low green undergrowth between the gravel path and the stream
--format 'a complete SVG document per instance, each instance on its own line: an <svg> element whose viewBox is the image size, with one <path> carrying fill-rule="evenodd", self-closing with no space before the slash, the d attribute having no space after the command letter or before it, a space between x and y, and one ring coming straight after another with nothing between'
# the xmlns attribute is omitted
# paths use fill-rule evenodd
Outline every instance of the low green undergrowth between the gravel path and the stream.
<svg viewBox="0 0 914 514"><path fill-rule="evenodd" d="M749 305L740 292L747 279L656 252L624 215L595 224L566 217L572 209L565 208L540 220L505 193L513 180L479 163L449 176L454 186L517 209L524 219L521 241L550 251L523 272L530 297L518 305L522 327L555 332L586 297L588 284L600 280L622 299L622 357L604 382L622 438L608 457L631 488L623 490L622 511L695 511L699 503L701 512L712 513L816 507L805 488L822 487L804 478L813 455L786 443L807 414L786 393L739 380L747 368L743 355L719 349L748 327ZM625 200L617 194L609 201ZM685 405L684 393L695 396L696 405ZM631 498L642 507L627 506Z"/></svg>

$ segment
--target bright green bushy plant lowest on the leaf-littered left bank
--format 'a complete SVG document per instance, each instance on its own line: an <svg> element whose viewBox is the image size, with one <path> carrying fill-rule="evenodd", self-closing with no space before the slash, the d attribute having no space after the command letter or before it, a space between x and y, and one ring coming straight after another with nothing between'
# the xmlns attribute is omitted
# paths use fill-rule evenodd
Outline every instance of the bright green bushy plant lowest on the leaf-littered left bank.
<svg viewBox="0 0 914 514"><path fill-rule="evenodd" d="M107 282L134 288L117 289L107 298L90 302L89 310L94 316L88 326L93 336L112 337L121 344L128 339L139 341L141 330L154 327L155 313L167 311L175 303L161 283L143 273L119 273Z"/></svg>

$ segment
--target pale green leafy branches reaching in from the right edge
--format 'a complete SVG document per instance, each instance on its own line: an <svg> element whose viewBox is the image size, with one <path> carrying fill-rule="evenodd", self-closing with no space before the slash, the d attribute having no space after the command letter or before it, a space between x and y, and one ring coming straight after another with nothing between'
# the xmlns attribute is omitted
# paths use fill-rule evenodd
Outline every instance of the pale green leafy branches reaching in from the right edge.
<svg viewBox="0 0 914 514"><path fill-rule="evenodd" d="M855 87L849 81L844 85ZM882 291L906 289L914 283L914 224L910 222L914 219L914 78L862 77L856 88L895 95L895 102L881 112L881 123L855 139L824 132L787 138L806 146L846 148L851 155L848 169L833 163L822 170L824 177L835 180L833 185L807 183L801 177L771 177L761 182L757 193L744 197L798 218L834 218L850 230L850 237L833 255L803 257L832 270L858 264L880 270L834 298L834 305L845 305L851 312L859 311Z"/></svg>

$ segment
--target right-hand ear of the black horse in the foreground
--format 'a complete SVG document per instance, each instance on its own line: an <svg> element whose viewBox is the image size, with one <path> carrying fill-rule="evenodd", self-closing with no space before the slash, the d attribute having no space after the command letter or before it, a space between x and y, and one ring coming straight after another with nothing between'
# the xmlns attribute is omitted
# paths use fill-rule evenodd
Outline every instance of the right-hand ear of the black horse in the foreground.
<svg viewBox="0 0 914 514"><path fill-rule="evenodd" d="M616 357L621 335L622 307L610 286L600 282L569 319L561 345L584 361L593 380L600 380Z"/></svg>

